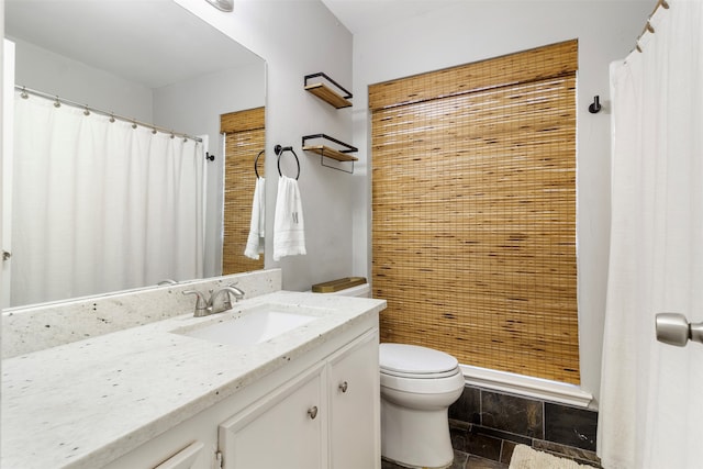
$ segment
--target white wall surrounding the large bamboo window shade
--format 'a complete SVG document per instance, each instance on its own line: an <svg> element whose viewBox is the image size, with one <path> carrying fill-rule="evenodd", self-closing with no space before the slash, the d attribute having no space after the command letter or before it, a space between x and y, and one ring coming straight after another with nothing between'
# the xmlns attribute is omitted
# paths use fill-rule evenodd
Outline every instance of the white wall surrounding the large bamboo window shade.
<svg viewBox="0 0 703 469"><path fill-rule="evenodd" d="M354 142L370 160L368 86L579 40L578 256L582 388L598 398L610 236L609 63L635 46L655 1L466 1L354 36ZM600 94L604 110L590 114ZM354 270L370 276L370 178L355 189ZM448 293L450 294L450 293Z"/></svg>

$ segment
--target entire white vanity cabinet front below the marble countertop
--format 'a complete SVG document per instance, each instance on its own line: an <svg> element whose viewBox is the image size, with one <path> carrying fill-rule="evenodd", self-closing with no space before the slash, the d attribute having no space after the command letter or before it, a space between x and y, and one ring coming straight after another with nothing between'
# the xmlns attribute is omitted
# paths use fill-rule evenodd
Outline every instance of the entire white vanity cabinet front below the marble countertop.
<svg viewBox="0 0 703 469"><path fill-rule="evenodd" d="M378 342L375 315L104 469L379 469Z"/></svg>

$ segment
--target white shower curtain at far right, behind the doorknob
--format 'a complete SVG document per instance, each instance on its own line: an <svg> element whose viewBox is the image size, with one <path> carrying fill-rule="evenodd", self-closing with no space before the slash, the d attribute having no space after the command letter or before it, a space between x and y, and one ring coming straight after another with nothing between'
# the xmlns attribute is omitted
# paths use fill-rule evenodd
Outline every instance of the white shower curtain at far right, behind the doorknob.
<svg viewBox="0 0 703 469"><path fill-rule="evenodd" d="M703 321L703 3L669 0L641 53L611 67L611 257L603 467L703 467L703 345L656 340L655 315Z"/></svg>

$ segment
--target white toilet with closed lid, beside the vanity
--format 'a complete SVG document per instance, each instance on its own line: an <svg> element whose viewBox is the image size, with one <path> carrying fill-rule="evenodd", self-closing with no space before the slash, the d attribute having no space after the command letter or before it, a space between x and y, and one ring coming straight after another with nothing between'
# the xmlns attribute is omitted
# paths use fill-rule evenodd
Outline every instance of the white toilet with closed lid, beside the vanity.
<svg viewBox="0 0 703 469"><path fill-rule="evenodd" d="M456 358L405 344L381 344L381 456L411 468L454 461L447 411L464 391Z"/></svg>

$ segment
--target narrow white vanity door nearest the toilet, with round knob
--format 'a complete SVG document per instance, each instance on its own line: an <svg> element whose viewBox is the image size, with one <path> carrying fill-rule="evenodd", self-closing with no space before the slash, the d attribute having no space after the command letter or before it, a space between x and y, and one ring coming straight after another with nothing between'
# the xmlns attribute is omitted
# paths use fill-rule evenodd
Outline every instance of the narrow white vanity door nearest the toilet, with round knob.
<svg viewBox="0 0 703 469"><path fill-rule="evenodd" d="M380 389L378 330L328 360L330 467L378 468Z"/></svg>

